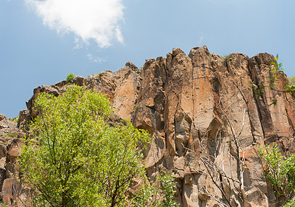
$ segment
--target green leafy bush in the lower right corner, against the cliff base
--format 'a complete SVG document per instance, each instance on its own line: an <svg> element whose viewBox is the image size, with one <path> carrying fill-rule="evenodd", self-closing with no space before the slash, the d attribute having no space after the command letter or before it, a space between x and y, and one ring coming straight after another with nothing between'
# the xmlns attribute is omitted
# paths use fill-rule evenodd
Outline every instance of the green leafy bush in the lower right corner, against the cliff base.
<svg viewBox="0 0 295 207"><path fill-rule="evenodd" d="M260 159L265 163L265 177L272 184L279 205L294 199L295 195L295 153L289 157L281 155L278 146L260 148ZM294 201L293 201L294 202Z"/></svg>

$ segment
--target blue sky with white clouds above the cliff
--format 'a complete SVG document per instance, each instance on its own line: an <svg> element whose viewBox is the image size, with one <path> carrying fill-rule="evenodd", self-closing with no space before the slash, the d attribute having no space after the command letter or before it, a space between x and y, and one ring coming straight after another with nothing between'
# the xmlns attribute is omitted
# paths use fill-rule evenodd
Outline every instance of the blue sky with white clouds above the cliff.
<svg viewBox="0 0 295 207"><path fill-rule="evenodd" d="M126 61L210 52L278 54L295 75L295 1L1 0L0 113L15 117L37 86L118 70Z"/></svg>

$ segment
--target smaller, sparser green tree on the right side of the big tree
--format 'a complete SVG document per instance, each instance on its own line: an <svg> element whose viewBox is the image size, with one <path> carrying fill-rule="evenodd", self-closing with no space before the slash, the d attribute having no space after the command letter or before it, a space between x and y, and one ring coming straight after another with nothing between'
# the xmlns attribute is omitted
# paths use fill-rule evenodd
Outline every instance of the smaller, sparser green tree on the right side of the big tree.
<svg viewBox="0 0 295 207"><path fill-rule="evenodd" d="M93 168L99 169L95 170L94 177L102 195L100 205L125 206L133 178L142 177L145 172L137 142L146 141L149 136L146 132L135 130L131 123L120 128L106 128L104 133L103 147L98 149L99 156L93 162L92 169L88 170L88 177L93 176Z"/></svg>

